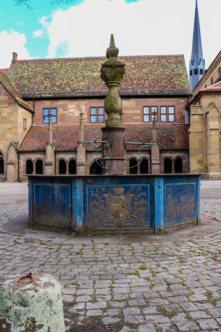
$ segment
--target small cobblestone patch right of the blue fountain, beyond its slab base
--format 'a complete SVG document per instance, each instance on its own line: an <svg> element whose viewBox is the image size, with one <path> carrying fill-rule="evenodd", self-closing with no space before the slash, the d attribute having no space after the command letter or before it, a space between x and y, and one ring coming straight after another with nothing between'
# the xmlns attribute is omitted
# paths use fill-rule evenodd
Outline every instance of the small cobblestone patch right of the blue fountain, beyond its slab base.
<svg viewBox="0 0 221 332"><path fill-rule="evenodd" d="M215 217L221 221L221 199L219 198L201 198L200 199L200 212L210 217Z"/></svg>

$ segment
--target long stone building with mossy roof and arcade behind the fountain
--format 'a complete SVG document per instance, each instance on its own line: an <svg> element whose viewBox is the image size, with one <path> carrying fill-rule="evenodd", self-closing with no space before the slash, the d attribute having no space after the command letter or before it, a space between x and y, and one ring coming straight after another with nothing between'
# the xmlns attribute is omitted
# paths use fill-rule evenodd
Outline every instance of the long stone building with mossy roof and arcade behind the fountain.
<svg viewBox="0 0 221 332"><path fill-rule="evenodd" d="M121 56L118 88L127 142L127 174L186 173L192 91L183 55ZM108 89L100 79L105 57L17 60L0 70L0 180L25 174L101 174L96 150ZM156 112L156 125L152 119ZM51 118L51 124L49 119ZM49 124L48 124L49 121ZM81 121L81 124L80 124ZM98 162L101 151L98 149ZM19 175L18 175L19 174Z"/></svg>

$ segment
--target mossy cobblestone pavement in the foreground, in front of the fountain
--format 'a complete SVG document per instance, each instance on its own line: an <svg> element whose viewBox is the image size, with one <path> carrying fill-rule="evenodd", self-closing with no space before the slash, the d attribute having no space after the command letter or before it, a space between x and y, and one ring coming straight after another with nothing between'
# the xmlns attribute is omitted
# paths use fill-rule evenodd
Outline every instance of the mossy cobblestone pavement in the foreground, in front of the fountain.
<svg viewBox="0 0 221 332"><path fill-rule="evenodd" d="M221 331L221 232L119 245L0 239L2 278L35 271L60 279L69 332L91 331L88 321L103 331Z"/></svg>

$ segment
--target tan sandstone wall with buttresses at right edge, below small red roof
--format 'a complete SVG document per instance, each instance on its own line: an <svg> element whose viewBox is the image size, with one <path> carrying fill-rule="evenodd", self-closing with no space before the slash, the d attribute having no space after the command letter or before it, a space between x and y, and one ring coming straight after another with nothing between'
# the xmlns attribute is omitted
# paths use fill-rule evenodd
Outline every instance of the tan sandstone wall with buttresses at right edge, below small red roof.
<svg viewBox="0 0 221 332"><path fill-rule="evenodd" d="M197 104L197 105L196 105ZM210 178L221 174L221 94L203 94L190 107L190 170Z"/></svg>

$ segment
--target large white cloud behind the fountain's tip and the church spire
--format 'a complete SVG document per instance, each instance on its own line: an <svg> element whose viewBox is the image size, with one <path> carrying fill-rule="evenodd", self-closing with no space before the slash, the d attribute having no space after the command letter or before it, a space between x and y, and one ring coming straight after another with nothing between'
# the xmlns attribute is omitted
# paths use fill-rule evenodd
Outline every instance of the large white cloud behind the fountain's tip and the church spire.
<svg viewBox="0 0 221 332"><path fill-rule="evenodd" d="M198 1L207 66L220 50L220 0ZM195 2L185 0L86 0L42 21L49 37L47 57L102 56L114 34L119 55L184 54L189 67ZM212 17L211 30L208 18ZM213 47L211 47L211 44Z"/></svg>

